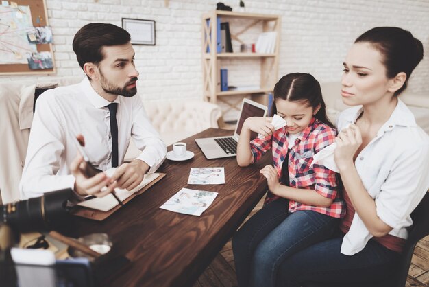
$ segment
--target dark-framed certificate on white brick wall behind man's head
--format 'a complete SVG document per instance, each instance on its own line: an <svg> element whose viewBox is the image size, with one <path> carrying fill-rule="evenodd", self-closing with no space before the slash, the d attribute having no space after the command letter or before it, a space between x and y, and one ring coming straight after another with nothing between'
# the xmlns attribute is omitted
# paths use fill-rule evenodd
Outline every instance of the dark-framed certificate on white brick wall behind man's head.
<svg viewBox="0 0 429 287"><path fill-rule="evenodd" d="M122 19L122 27L131 35L132 45L155 45L155 21Z"/></svg>

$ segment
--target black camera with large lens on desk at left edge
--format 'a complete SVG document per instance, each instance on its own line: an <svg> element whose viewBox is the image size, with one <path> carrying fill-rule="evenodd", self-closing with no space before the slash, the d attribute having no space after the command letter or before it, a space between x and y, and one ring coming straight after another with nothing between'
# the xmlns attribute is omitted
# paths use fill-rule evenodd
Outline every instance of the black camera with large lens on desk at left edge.
<svg viewBox="0 0 429 287"><path fill-rule="evenodd" d="M70 188L47 192L0 206L0 221L20 232L49 231L64 224L70 214L67 202L72 195Z"/></svg>

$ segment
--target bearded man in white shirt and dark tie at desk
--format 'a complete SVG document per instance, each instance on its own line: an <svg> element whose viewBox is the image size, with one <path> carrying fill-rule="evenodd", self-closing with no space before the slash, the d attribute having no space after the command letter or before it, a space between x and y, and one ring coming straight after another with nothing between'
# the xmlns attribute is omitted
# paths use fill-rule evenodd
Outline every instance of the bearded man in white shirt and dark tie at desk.
<svg viewBox="0 0 429 287"><path fill-rule="evenodd" d="M80 199L105 196L115 187L132 190L165 159L166 146L136 96L138 71L130 34L112 24L90 23L75 34L73 51L86 78L38 97L21 199L63 188L72 188ZM111 177L84 174L86 163L75 137L84 143L95 168L117 167ZM142 152L123 163L131 138Z"/></svg>

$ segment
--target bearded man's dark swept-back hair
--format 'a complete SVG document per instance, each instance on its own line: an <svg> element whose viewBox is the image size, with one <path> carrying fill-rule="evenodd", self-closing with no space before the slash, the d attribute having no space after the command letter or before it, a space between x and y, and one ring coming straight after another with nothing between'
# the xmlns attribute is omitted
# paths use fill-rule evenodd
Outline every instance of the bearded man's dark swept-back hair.
<svg viewBox="0 0 429 287"><path fill-rule="evenodd" d="M106 23L90 23L84 25L75 34L73 51L79 66L84 69L86 62L98 64L104 58L103 46L123 45L130 42L131 36L121 27Z"/></svg>

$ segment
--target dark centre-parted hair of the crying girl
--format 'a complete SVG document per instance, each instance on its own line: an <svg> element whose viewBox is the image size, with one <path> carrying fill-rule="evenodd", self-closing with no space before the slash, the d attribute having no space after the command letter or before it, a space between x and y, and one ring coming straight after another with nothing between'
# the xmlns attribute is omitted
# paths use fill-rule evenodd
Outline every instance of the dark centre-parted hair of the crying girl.
<svg viewBox="0 0 429 287"><path fill-rule="evenodd" d="M306 102L312 108L317 108L320 104L320 109L315 117L334 128L334 125L326 115L326 105L321 95L320 84L309 73L289 73L275 84L271 115L277 113L275 101L278 99L288 100L289 102Z"/></svg>

